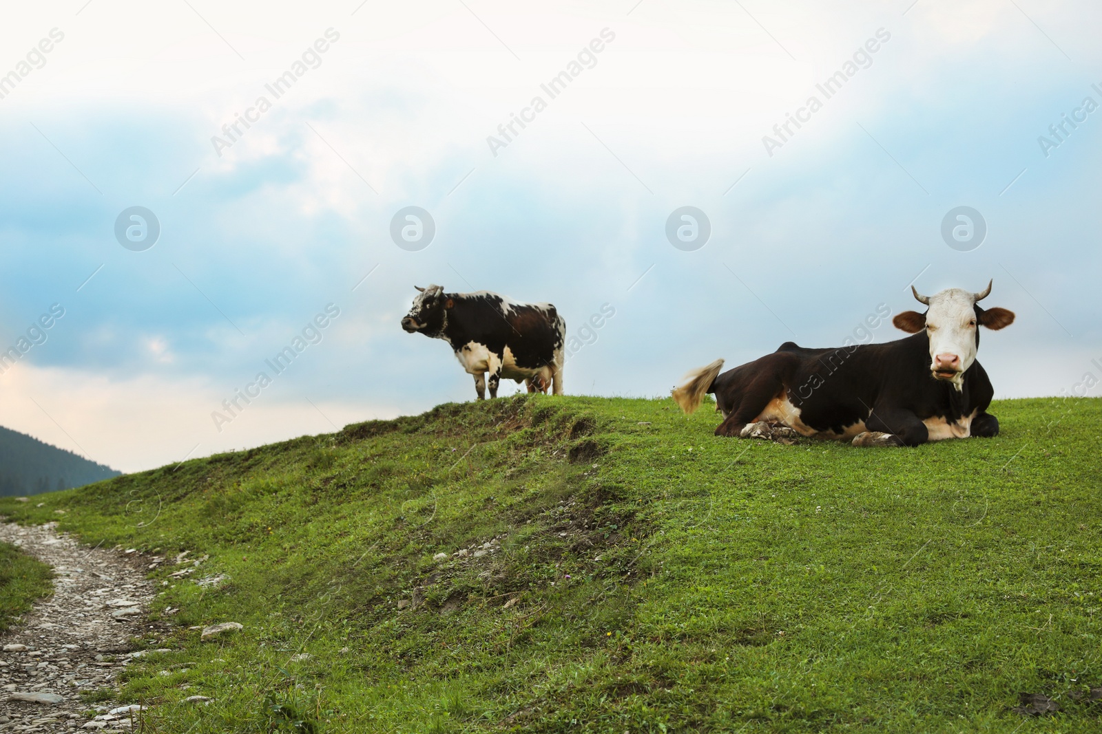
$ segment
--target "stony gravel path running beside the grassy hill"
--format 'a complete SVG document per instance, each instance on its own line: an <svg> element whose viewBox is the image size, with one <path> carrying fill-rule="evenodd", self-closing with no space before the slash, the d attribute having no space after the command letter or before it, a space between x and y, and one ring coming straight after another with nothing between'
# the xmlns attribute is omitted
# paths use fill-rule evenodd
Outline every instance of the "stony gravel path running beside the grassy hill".
<svg viewBox="0 0 1102 734"><path fill-rule="evenodd" d="M155 593L149 559L83 546L55 524L0 524L0 540L48 563L54 594L0 635L0 732L130 731L126 702L93 705L80 691L114 687ZM137 708L137 706L133 706ZM96 711L90 717L86 712Z"/></svg>

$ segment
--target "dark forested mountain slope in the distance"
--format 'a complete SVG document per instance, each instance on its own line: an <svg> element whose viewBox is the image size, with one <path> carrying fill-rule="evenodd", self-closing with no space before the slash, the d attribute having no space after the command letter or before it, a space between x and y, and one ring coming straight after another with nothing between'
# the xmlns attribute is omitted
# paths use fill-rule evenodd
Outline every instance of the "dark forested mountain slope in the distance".
<svg viewBox="0 0 1102 734"><path fill-rule="evenodd" d="M56 492L121 473L0 426L0 496Z"/></svg>

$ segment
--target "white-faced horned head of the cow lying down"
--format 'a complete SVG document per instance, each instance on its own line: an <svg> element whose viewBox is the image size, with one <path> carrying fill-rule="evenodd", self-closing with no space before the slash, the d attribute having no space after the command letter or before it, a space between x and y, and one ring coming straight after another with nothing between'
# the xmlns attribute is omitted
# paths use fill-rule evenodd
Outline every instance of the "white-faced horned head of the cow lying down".
<svg viewBox="0 0 1102 734"><path fill-rule="evenodd" d="M923 296L910 286L915 298L928 306L925 314L904 311L892 322L910 333L926 330L930 340L930 372L937 380L951 382L961 388L964 372L975 361L980 347L980 326L1002 329L1014 322L1014 311L1005 308L983 309L979 302L991 293L991 283L981 293L947 288Z"/></svg>

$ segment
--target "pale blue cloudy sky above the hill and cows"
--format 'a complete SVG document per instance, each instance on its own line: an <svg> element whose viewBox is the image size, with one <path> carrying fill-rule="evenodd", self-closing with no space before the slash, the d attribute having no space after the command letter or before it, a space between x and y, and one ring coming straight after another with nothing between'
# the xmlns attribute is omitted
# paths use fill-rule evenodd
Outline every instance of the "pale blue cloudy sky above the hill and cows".
<svg viewBox="0 0 1102 734"><path fill-rule="evenodd" d="M474 399L399 326L429 284L659 396L994 280L996 396L1099 394L1098 3L306 4L4 9L0 425L130 472Z"/></svg>

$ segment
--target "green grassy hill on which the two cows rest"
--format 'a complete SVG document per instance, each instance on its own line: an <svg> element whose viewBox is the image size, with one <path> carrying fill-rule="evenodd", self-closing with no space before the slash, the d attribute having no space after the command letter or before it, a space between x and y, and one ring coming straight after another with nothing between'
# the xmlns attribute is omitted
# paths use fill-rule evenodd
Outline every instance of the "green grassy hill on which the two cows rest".
<svg viewBox="0 0 1102 734"><path fill-rule="evenodd" d="M150 731L1096 732L1102 401L993 412L854 449L518 396L0 513L168 559L174 632L139 644L173 651L125 690Z"/></svg>

